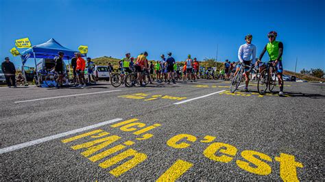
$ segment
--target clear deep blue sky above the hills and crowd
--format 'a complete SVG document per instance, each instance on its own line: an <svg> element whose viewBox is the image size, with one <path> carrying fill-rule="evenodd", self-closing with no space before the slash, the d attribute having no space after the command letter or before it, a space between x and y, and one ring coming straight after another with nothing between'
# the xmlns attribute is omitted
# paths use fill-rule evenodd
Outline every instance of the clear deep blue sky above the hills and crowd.
<svg viewBox="0 0 325 182"><path fill-rule="evenodd" d="M0 0L0 62L8 56L21 66L10 49L26 37L32 45L50 38L73 50L88 45L93 58L147 51L148 60L172 52L176 61L188 54L237 61L245 35L258 56L272 30L284 44L285 70L295 70L297 57L297 71L325 68L324 0Z"/></svg>

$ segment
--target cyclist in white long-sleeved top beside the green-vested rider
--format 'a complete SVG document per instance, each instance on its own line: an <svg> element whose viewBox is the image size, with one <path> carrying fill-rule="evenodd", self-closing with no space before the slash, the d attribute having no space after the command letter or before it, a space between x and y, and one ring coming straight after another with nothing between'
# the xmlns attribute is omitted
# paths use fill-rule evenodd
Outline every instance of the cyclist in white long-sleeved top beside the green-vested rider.
<svg viewBox="0 0 325 182"><path fill-rule="evenodd" d="M245 92L249 92L248 91L248 83L250 81L249 76L250 76L250 66L252 63L252 60L255 60L256 58L256 47L254 44L252 44L252 38L253 36L251 34L248 34L247 36L245 36L245 44L242 44L241 47L239 47L238 50L238 59L241 62L241 64L245 65ZM252 57L252 60L250 59L250 57ZM237 66L237 70L236 73L234 73L234 76L237 75L238 71L239 71L240 66Z"/></svg>

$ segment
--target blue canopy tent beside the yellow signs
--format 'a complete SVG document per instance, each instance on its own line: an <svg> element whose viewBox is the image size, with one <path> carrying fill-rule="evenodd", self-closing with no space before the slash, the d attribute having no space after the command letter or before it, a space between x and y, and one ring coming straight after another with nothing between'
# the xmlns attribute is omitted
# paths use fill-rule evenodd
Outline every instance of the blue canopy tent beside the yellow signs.
<svg viewBox="0 0 325 182"><path fill-rule="evenodd" d="M49 58L53 59L58 56L58 52L61 51L64 53L63 60L71 60L71 58L75 57L75 52L71 49L63 47L59 42L56 42L53 38L44 42L43 44L34 45L33 47L23 51L21 53L21 62L23 66L27 62L29 58L34 58L35 69L37 67L36 58ZM82 57L85 57L86 54L82 54ZM24 72L25 75L25 72ZM38 73L36 74L36 79L38 83L40 83Z"/></svg>

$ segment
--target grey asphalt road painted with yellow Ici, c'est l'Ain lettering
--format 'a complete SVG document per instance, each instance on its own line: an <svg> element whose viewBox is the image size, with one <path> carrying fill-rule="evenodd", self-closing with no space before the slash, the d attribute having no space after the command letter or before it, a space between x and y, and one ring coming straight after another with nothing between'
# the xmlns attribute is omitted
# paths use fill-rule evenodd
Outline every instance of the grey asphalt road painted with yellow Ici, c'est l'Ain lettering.
<svg viewBox="0 0 325 182"><path fill-rule="evenodd" d="M324 83L255 84L1 87L0 181L324 181Z"/></svg>

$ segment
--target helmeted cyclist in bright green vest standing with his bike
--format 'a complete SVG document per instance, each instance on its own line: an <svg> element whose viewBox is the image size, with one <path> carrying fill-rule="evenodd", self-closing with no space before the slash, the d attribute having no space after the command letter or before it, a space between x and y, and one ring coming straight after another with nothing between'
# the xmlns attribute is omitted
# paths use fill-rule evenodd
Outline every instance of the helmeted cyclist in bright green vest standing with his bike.
<svg viewBox="0 0 325 182"><path fill-rule="evenodd" d="M276 41L276 36L278 36L278 33L276 33L276 31L270 31L269 34L267 34L267 38L269 38L269 42L265 45L260 57L258 57L258 61L256 62L256 65L259 62L261 62L265 51L267 51L267 53L269 53L269 62L272 62L273 66L276 67L278 83L280 87L279 95L282 96L283 95L283 78L282 78L283 43L280 41ZM265 69L265 65L262 65L260 67L260 71L263 69Z"/></svg>

